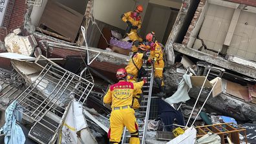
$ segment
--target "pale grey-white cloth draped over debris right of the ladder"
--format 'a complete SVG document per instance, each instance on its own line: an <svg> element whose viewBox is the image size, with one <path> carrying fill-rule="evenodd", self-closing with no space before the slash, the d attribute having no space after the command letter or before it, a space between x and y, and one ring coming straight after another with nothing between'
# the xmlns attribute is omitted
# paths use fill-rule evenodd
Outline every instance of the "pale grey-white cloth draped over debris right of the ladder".
<svg viewBox="0 0 256 144"><path fill-rule="evenodd" d="M171 105L173 103L180 103L189 100L190 98L187 93L189 88L192 88L190 76L188 74L184 74L183 79L178 84L178 89L176 92L173 94L173 96L164 99L164 101Z"/></svg>

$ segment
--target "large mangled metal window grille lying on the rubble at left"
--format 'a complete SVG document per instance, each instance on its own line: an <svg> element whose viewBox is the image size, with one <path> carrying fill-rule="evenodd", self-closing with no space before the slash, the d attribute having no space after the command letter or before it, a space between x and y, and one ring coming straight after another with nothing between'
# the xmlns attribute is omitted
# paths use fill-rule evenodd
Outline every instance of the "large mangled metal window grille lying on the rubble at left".
<svg viewBox="0 0 256 144"><path fill-rule="evenodd" d="M21 112L25 116L36 122L28 136L39 143L52 143L65 119L68 110L67 102L70 99L76 99L82 104L85 103L94 83L81 77L86 70L78 76L43 56L38 57L34 63L43 70L37 79L17 97L17 105L23 108ZM45 87L47 93L41 90L45 85L47 85Z"/></svg>

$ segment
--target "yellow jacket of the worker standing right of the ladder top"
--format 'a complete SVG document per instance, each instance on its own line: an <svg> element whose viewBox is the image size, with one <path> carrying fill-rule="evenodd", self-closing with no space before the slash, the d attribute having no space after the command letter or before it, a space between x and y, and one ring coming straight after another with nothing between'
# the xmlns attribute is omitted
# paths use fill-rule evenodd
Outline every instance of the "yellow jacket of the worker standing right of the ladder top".
<svg viewBox="0 0 256 144"><path fill-rule="evenodd" d="M151 57L151 59L155 59L155 61L164 59L164 53L162 50L162 46L160 46L157 41L150 48L150 57Z"/></svg>

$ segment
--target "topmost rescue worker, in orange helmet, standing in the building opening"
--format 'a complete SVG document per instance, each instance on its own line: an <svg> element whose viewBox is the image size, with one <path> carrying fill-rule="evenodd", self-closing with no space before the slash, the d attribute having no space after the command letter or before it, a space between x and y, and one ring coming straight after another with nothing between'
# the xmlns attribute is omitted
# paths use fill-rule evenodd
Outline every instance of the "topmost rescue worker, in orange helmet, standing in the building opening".
<svg viewBox="0 0 256 144"><path fill-rule="evenodd" d="M127 12L123 15L121 15L122 20L127 23L127 28L125 30L127 36L133 41L133 52L136 52L136 47L138 47L138 44L142 42L142 37L138 35L138 29L142 26L142 21L140 21L140 13L143 12L143 6L138 5L136 6L136 9L134 12Z"/></svg>

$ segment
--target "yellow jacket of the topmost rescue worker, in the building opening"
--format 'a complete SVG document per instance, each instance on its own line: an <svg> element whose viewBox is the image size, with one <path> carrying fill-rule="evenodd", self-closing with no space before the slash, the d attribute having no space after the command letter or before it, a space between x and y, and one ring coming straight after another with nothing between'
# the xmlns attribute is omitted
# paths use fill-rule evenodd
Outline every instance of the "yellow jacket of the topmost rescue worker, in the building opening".
<svg viewBox="0 0 256 144"><path fill-rule="evenodd" d="M139 16L134 16L134 12L127 12L123 14L122 20L126 23L126 21L130 21L133 26L138 26L138 29L141 28L142 26L142 21L140 21L141 17Z"/></svg>

